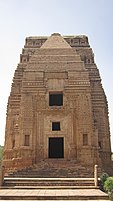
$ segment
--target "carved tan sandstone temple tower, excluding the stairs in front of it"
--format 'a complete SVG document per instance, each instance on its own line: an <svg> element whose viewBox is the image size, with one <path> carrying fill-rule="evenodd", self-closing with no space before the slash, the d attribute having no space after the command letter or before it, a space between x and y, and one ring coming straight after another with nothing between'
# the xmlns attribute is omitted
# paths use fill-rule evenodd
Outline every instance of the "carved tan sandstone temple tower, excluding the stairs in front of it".
<svg viewBox="0 0 113 201"><path fill-rule="evenodd" d="M3 165L10 172L42 161L111 172L108 104L87 36L26 38L8 99Z"/></svg>

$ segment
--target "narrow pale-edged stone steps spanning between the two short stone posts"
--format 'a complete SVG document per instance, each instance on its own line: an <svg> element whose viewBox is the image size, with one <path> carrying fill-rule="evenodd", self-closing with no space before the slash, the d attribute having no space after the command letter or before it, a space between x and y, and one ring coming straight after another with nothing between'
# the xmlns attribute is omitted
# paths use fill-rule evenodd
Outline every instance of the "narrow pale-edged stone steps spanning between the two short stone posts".
<svg viewBox="0 0 113 201"><path fill-rule="evenodd" d="M94 178L4 178L4 186L94 186Z"/></svg>

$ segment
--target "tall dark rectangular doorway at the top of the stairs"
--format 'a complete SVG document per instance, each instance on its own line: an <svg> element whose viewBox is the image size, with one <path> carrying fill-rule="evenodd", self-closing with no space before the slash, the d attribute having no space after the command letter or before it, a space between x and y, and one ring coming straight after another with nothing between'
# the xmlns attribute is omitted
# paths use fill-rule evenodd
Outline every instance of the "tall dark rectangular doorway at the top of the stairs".
<svg viewBox="0 0 113 201"><path fill-rule="evenodd" d="M64 138L49 138L49 158L64 158Z"/></svg>

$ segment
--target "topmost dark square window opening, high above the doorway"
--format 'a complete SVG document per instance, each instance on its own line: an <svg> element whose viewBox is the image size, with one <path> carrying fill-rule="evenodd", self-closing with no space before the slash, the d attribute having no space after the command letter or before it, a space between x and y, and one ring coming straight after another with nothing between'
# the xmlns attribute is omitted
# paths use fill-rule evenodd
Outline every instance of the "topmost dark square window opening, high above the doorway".
<svg viewBox="0 0 113 201"><path fill-rule="evenodd" d="M63 105L63 93L49 94L49 106L62 106L62 105Z"/></svg>

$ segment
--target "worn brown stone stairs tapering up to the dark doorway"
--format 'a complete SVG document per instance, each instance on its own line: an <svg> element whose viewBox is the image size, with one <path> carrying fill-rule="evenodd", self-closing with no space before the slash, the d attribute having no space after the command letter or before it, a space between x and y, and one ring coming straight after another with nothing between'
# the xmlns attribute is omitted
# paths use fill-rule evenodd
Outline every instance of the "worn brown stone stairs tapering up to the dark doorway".
<svg viewBox="0 0 113 201"><path fill-rule="evenodd" d="M9 174L10 177L92 177L93 174L86 167L76 161L45 160L23 170Z"/></svg>

